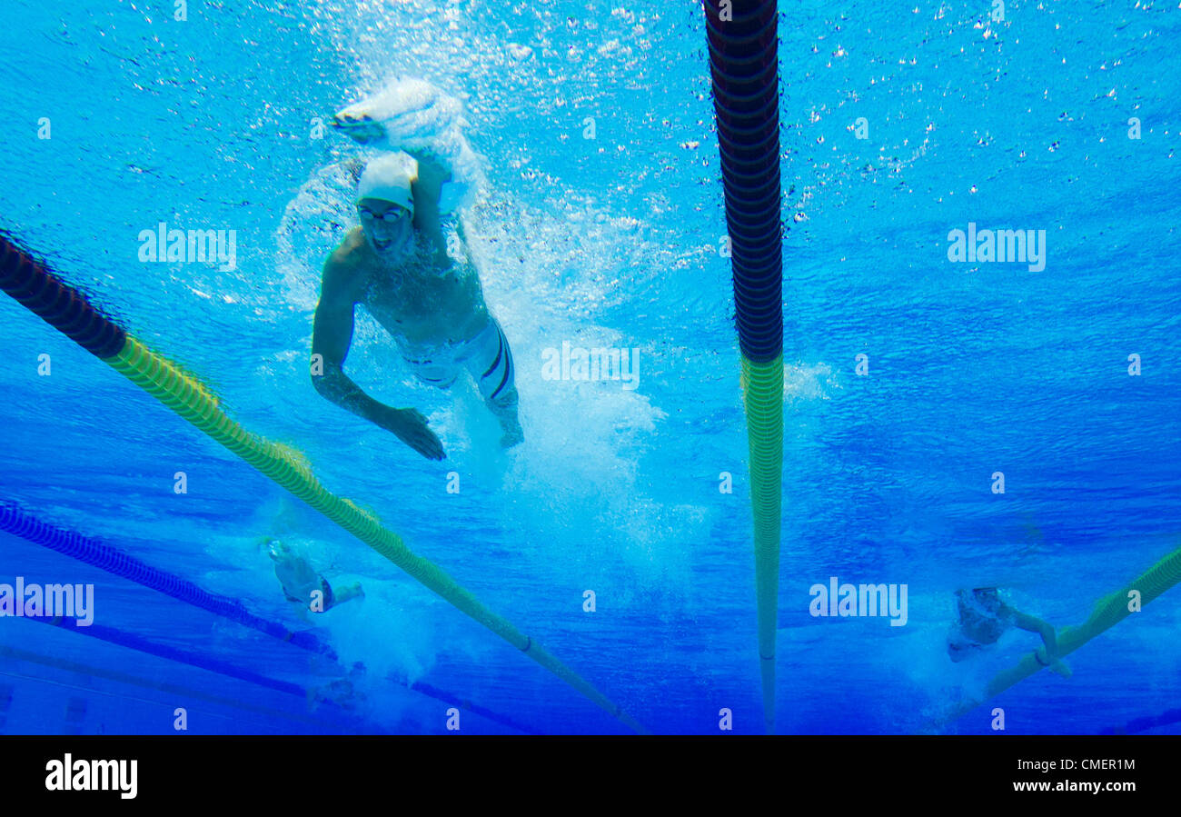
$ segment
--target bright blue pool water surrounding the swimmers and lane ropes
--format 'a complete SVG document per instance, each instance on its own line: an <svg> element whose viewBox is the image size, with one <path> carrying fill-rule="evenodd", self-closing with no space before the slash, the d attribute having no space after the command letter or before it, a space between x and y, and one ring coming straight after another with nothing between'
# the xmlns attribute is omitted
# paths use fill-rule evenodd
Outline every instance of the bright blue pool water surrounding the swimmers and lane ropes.
<svg viewBox="0 0 1181 817"><path fill-rule="evenodd" d="M717 734L730 710L735 732L761 732L700 7L187 12L0 6L0 229L648 730ZM1010 630L953 664L957 589L999 586L1075 625L1181 544L1181 11L1044 0L990 14L781 4L779 732L933 728L1038 645ZM462 99L483 159L469 240L516 359L526 443L507 453L470 384L417 384L368 316L350 374L426 414L446 460L307 375L320 266L351 226L318 179L358 155L331 129L317 138L315 120L396 77ZM235 230L235 268L142 262L138 235L159 222ZM1044 230L1044 269L950 261L948 233L968 223ZM180 707L196 733L445 733L448 700L463 700L463 733L627 732L12 299L0 325L0 501L314 626L339 654L0 534L0 582L93 583L97 625L313 691L0 617L0 731L171 733ZM639 386L542 377L563 342L639 349ZM333 586L361 582L364 601L302 621L259 544L269 535ZM831 576L906 584L906 625L810 615L809 589ZM1071 679L1039 673L997 698L1006 731L1095 733L1174 708L1179 627L1174 589L1071 654ZM991 732L990 710L940 728Z"/></svg>

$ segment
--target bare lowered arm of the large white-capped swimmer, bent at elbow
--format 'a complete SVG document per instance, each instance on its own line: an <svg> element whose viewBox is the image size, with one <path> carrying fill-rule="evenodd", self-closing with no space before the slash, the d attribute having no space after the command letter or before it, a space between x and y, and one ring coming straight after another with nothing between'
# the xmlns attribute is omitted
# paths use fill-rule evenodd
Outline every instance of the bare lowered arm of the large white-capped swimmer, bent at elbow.
<svg viewBox="0 0 1181 817"><path fill-rule="evenodd" d="M347 286L347 269L329 259L324 266L320 302L315 307L312 354L319 354L324 374L313 374L312 385L322 397L341 408L393 433L428 459L443 459L443 444L415 408L393 408L374 400L344 372L345 358L353 342L355 298Z"/></svg>

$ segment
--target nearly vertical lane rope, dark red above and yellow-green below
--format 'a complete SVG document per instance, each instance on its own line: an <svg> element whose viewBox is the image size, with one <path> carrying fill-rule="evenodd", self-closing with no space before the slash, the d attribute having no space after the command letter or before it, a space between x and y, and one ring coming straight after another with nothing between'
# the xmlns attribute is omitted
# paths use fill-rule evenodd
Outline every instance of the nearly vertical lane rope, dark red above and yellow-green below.
<svg viewBox="0 0 1181 817"><path fill-rule="evenodd" d="M755 524L764 727L775 731L783 475L783 222L775 0L704 0Z"/></svg>

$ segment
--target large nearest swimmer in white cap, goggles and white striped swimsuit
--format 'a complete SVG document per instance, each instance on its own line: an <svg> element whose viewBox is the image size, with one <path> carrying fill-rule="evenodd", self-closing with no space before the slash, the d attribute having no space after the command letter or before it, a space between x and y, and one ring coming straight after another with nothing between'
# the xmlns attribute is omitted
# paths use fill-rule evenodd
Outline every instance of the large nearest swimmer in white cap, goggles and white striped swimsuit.
<svg viewBox="0 0 1181 817"><path fill-rule="evenodd" d="M315 390L428 459L444 453L426 418L374 400L344 373L358 303L390 333L419 380L449 388L468 370L501 424L501 445L524 439L508 339L484 303L475 268L446 251L439 195L448 178L425 152L417 159L387 153L365 166L357 192L360 226L324 266L312 336L312 353L324 361L324 373L312 375Z"/></svg>

